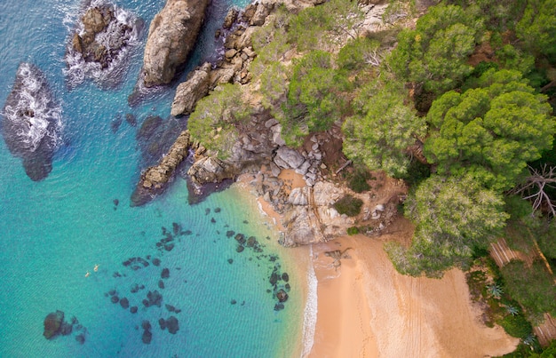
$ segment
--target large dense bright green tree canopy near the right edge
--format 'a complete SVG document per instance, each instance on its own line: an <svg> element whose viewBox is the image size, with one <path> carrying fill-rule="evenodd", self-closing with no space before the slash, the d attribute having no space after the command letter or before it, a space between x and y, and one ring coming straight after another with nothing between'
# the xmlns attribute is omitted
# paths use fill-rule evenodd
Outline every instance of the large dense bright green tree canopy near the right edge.
<svg viewBox="0 0 556 358"><path fill-rule="evenodd" d="M440 174L471 172L487 187L505 190L527 162L552 147L552 108L517 71L489 70L478 84L433 101L425 155Z"/></svg>

